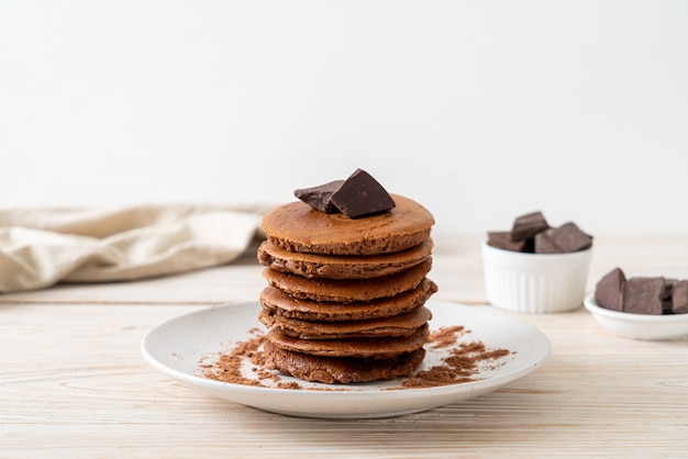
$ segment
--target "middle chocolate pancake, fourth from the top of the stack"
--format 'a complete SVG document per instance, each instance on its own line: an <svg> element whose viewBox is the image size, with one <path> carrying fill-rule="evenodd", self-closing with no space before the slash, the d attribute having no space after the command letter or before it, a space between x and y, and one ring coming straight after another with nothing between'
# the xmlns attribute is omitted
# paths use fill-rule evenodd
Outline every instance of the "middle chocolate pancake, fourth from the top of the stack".
<svg viewBox="0 0 688 459"><path fill-rule="evenodd" d="M300 300L268 286L260 292L260 304L271 315L286 318L319 322L360 321L408 313L422 306L436 291L437 286L425 278L415 289L392 298L340 304Z"/></svg>

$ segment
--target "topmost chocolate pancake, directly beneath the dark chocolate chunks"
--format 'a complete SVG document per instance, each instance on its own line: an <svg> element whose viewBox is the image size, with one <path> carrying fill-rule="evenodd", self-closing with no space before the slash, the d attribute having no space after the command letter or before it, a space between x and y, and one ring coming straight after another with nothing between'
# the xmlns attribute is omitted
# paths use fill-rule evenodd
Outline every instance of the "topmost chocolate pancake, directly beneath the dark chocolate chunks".
<svg viewBox="0 0 688 459"><path fill-rule="evenodd" d="M390 254L421 244L430 236L434 217L415 201L390 195L393 209L364 219L320 212L302 201L290 202L266 214L263 229L275 246L322 255Z"/></svg>

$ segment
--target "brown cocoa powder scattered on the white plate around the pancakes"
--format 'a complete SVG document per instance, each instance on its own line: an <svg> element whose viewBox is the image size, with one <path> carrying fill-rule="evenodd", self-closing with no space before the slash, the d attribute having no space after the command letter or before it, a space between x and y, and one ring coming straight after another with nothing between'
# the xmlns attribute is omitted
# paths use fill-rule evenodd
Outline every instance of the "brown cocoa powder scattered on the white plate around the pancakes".
<svg viewBox="0 0 688 459"><path fill-rule="evenodd" d="M431 349L448 348L454 346L459 337L468 333L470 332L460 325L442 327L430 334L426 346ZM265 356L260 351L266 337L258 328L252 329L251 334L251 338L237 343L229 352L221 354L212 363L206 363L206 358L201 359L200 368L202 369L202 376L234 384L293 390L303 389L297 382L282 381L279 374L266 368ZM509 349L488 349L481 342L460 343L448 351L448 355L442 359L441 365L419 371L414 376L403 379L401 385L393 388L393 390L435 388L475 381L475 376L479 373L480 368L485 368L486 363L490 363L491 367L489 368L491 369L498 368L499 362L497 360L510 354ZM246 361L249 361L252 365L249 369L252 378L244 376ZM264 381L270 381L271 384L266 384ZM343 389L344 387L339 385L332 390Z"/></svg>

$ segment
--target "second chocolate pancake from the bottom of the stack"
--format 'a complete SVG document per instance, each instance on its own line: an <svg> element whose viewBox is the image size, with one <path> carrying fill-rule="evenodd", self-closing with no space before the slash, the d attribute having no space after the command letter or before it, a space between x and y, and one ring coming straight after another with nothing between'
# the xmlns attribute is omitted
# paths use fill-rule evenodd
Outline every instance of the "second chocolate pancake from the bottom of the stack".
<svg viewBox="0 0 688 459"><path fill-rule="evenodd" d="M430 335L429 328L424 324L410 336L359 339L298 339L270 328L267 340L281 349L310 356L389 359L423 347Z"/></svg>

